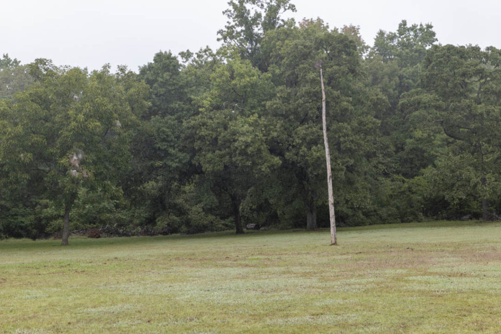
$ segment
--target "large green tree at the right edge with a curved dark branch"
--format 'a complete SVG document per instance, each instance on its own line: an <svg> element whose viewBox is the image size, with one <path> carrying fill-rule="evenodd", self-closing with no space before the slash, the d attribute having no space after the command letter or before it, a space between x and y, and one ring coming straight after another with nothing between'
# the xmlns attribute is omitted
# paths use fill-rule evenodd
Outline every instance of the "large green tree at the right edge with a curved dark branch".
<svg viewBox="0 0 501 334"><path fill-rule="evenodd" d="M434 189L452 203L478 199L484 220L488 200L497 200L500 188L500 65L501 51L493 47L434 46L424 62L422 89L413 93L434 102L427 113L449 138L445 155L428 170Z"/></svg>

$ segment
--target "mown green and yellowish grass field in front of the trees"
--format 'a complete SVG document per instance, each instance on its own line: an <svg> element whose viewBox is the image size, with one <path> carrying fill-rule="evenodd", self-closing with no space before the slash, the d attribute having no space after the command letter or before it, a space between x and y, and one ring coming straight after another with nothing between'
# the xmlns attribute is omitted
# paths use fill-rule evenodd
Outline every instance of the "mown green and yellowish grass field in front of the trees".
<svg viewBox="0 0 501 334"><path fill-rule="evenodd" d="M0 241L0 332L501 332L501 223Z"/></svg>

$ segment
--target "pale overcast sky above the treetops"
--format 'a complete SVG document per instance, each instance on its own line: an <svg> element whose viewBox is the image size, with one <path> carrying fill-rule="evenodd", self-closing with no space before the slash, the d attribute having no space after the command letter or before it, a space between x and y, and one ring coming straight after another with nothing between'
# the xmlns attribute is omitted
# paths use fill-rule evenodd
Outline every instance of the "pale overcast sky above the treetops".
<svg viewBox="0 0 501 334"><path fill-rule="evenodd" d="M372 45L379 29L395 31L401 20L431 23L441 44L501 48L501 1L292 0L297 19L320 17L331 28L358 25ZM127 65L133 71L159 50L177 54L217 48L227 0L11 0L0 6L0 54L27 64L99 69ZM287 15L286 15L287 16Z"/></svg>

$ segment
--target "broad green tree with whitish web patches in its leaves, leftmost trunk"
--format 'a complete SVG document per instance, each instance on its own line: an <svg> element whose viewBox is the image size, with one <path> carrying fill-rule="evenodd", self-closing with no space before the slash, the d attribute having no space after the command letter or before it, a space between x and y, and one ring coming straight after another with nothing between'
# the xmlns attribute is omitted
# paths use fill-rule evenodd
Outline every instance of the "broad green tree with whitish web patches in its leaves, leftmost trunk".
<svg viewBox="0 0 501 334"><path fill-rule="evenodd" d="M63 245L79 189L107 191L129 162L133 114L109 66L90 75L79 68L31 64L36 83L16 95L2 123L9 179L34 190L35 205L63 211Z"/></svg>

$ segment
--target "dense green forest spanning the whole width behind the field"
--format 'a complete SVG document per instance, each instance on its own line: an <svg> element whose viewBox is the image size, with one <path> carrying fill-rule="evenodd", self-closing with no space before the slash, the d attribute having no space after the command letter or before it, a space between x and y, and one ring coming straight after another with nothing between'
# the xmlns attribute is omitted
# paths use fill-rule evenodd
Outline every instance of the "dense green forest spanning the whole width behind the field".
<svg viewBox="0 0 501 334"><path fill-rule="evenodd" d="M228 4L219 49L138 73L4 55L0 238L329 226L319 61L338 226L501 213L500 50Z"/></svg>

